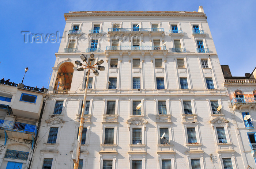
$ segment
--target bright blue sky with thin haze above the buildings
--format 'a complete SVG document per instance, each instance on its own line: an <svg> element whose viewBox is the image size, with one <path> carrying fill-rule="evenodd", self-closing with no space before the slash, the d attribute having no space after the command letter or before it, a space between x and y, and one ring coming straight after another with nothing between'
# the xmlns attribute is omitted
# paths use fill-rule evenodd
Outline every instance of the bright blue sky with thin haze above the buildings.
<svg viewBox="0 0 256 169"><path fill-rule="evenodd" d="M38 88L47 87L59 43L24 43L21 31L63 34L68 11L197 11L202 5L221 65L229 65L233 76L244 76L255 68L255 0L51 0L1 1L0 78ZM253 59L254 58L254 59Z"/></svg>

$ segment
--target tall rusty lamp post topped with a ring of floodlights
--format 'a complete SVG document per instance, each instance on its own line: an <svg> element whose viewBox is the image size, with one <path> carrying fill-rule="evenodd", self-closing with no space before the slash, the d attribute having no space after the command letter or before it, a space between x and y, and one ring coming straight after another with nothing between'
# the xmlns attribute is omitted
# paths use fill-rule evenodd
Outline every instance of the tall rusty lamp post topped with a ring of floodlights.
<svg viewBox="0 0 256 169"><path fill-rule="evenodd" d="M82 131L83 131L83 123L84 123L84 110L85 110L85 104L86 104L86 96L87 96L87 88L88 88L88 83L89 83L90 70L93 71L93 74L95 76L99 76L99 72L96 69L98 69L100 71L104 71L105 70L104 66L99 66L99 65L103 64L103 62L104 62L102 59L99 60L96 64L91 65L91 62L94 59L94 54L90 54L90 57L88 59L90 61L90 64L89 64L89 61L88 61L88 63L86 62L87 55L85 56L84 54L81 54L80 58L82 59L83 62L86 63L86 65L83 65L80 61L75 61L76 65L79 65L79 66L83 65L83 66L85 66L84 68L83 67L77 68L77 70L78 71L83 71L84 69L88 69L88 71L86 72L87 79L86 79L86 87L85 87L84 98L83 98L83 108L82 108L82 114L81 114L81 118L80 118L80 126L79 126L79 132L78 132L78 139L75 142L75 147L74 147L74 151L73 151L73 155L72 155L72 160L74 161L74 169L78 169L78 166L79 166L81 140L82 140ZM98 68L94 67L96 65L98 65Z"/></svg>

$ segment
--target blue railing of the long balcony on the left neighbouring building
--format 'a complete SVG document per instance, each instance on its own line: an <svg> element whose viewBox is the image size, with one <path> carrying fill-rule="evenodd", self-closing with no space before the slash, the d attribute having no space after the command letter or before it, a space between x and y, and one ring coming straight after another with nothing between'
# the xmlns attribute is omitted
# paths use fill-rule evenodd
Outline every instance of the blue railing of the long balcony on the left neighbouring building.
<svg viewBox="0 0 256 169"><path fill-rule="evenodd" d="M25 132L25 131L34 132L35 135L37 135L37 127L32 124L12 122L8 120L0 120L0 127L18 131L18 132Z"/></svg>

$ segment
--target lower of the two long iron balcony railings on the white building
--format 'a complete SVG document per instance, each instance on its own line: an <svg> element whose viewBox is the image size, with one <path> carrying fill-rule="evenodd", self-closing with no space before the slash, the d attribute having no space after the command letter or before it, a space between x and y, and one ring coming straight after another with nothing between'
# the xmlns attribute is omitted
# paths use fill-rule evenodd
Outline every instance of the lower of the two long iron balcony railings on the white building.
<svg viewBox="0 0 256 169"><path fill-rule="evenodd" d="M166 46L107 46L106 50L166 50Z"/></svg>

